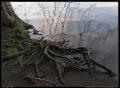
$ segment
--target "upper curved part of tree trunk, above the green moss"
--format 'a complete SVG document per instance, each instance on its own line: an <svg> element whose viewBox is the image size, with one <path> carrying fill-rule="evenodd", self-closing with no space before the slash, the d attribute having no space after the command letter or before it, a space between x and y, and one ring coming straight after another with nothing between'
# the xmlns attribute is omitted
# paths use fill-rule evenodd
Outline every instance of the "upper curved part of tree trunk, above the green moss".
<svg viewBox="0 0 120 88"><path fill-rule="evenodd" d="M2 2L1 5L1 20L2 25L7 27L13 27L16 23L21 23L24 27L30 27L30 24L22 21L14 12L10 2ZM33 26L31 26L33 27Z"/></svg>

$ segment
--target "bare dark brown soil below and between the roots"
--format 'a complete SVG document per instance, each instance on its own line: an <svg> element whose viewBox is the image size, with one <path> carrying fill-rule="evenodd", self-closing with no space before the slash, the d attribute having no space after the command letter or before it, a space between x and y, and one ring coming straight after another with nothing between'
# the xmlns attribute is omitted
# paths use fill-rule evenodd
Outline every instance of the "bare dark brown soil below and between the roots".
<svg viewBox="0 0 120 88"><path fill-rule="evenodd" d="M96 71L94 75L90 75L87 71L80 71L77 69L66 69L63 75L63 80L65 85L59 83L56 75L56 70L53 64L47 63L41 65L41 67L46 71L47 76L45 79L51 80L57 84L57 86L76 86L76 87L90 87L90 86L109 86L117 87L118 80L111 77L108 74ZM53 84L45 81L28 81L23 79L25 75L33 75L35 73L34 65L26 66L23 69L22 74L11 74L14 68L11 65L6 65L2 68L2 87L51 87Z"/></svg>

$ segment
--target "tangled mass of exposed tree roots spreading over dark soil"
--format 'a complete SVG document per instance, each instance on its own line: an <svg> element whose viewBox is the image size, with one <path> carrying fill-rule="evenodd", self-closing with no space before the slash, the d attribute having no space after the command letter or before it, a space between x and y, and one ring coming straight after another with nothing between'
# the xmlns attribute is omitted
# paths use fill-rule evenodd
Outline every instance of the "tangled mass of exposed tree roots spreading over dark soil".
<svg viewBox="0 0 120 88"><path fill-rule="evenodd" d="M113 73L110 69L104 67L103 65L100 65L99 63L95 62L90 58L88 50L85 47L80 47L77 49L74 48L61 48L59 44L55 44L53 42L45 41L43 39L41 40L35 40L35 41L26 41L26 42L20 42L19 46L23 51L14 53L12 55L7 55L3 57L3 62L9 60L10 58L14 58L20 55L22 59L19 59L17 64L19 63L19 66L23 65L30 65L32 63L35 64L36 73L37 76L39 75L39 70L37 65L41 63L42 60L49 59L52 60L56 65L56 70L58 72L58 80L60 83L65 84L62 75L64 73L64 70L69 67L77 68L77 69L87 69L90 73L94 73L95 66L98 66L105 71L107 71L110 75L115 76L115 73ZM23 46L30 46L32 48L25 49ZM80 54L81 56L75 56L75 54ZM70 55L71 57L68 57L67 55ZM47 56L43 57L43 56ZM73 57L72 57L73 56ZM54 85L56 83L51 82L46 79L41 78L31 78L34 80L40 80L40 81L47 81Z"/></svg>

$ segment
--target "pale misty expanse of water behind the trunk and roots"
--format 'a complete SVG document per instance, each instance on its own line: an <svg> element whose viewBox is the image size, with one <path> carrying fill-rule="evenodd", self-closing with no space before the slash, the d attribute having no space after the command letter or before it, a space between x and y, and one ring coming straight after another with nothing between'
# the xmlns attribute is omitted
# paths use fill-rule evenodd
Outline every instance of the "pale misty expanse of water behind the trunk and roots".
<svg viewBox="0 0 120 88"><path fill-rule="evenodd" d="M108 67L118 75L117 2L72 2L70 5L67 2L59 21L57 18L65 2L56 2L56 7L55 2L11 3L18 17L34 25L40 33L49 35L49 27L52 24L51 34L55 36L52 37L52 40L62 41L66 39L70 40L69 47L87 47L93 52L92 56L96 57L97 62ZM86 14L84 14L85 11ZM63 25L61 22L64 22L65 14L66 18L62 31ZM52 18L54 20L53 23ZM55 32L56 24L58 24L57 32ZM84 29L86 31L80 37L80 33ZM67 35L64 35L62 32ZM30 35L34 38L38 37L32 35L32 33ZM46 38L49 39L50 36Z"/></svg>

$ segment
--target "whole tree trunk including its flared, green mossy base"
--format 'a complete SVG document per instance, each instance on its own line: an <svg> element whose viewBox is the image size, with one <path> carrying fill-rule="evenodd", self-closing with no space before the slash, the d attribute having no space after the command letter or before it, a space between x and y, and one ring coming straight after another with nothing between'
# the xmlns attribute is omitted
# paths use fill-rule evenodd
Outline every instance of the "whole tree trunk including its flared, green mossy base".
<svg viewBox="0 0 120 88"><path fill-rule="evenodd" d="M10 55L20 51L17 44L18 40L29 38L26 29L33 28L32 25L22 21L14 12L10 2L2 2L1 5L1 50L2 56ZM12 45L12 46L8 46Z"/></svg>

